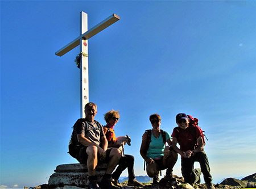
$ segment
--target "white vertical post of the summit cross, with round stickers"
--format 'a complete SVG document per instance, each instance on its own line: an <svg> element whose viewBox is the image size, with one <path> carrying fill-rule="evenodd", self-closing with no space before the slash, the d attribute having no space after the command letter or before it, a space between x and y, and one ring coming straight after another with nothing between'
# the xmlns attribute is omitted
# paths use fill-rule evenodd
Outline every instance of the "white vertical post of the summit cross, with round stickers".
<svg viewBox="0 0 256 189"><path fill-rule="evenodd" d="M87 14L80 12L80 35L88 30ZM80 117L85 117L84 107L89 102L88 40L80 38ZM85 55L83 55L85 54Z"/></svg>

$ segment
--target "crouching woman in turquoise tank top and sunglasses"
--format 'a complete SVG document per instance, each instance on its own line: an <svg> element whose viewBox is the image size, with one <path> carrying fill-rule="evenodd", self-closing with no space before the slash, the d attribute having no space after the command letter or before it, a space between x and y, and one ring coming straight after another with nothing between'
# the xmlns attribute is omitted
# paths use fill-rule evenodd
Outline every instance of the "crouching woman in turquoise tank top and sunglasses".
<svg viewBox="0 0 256 189"><path fill-rule="evenodd" d="M160 130L161 117L158 114L150 116L151 130L146 130L142 136L141 156L147 163L147 175L153 178L153 184L159 183L160 170L166 170L166 176L160 180L168 183L172 179L172 168L177 161L177 153L172 150L172 138L167 131ZM148 135L151 133L151 135ZM165 140L164 140L165 139ZM166 142L168 145L166 145Z"/></svg>

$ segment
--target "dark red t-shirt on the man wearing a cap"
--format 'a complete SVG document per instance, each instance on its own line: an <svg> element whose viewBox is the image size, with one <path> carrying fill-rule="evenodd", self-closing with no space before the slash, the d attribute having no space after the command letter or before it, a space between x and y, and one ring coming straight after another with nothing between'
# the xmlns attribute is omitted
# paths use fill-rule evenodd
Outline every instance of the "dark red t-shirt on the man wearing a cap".
<svg viewBox="0 0 256 189"><path fill-rule="evenodd" d="M193 127L193 126L189 126ZM189 127L185 130L175 127L172 132L172 137L177 138L177 142L179 142L180 150L186 152L187 150L195 149L195 145L197 144L197 138L201 135L203 137L203 132L199 127L195 127L195 132L191 134L189 131Z"/></svg>

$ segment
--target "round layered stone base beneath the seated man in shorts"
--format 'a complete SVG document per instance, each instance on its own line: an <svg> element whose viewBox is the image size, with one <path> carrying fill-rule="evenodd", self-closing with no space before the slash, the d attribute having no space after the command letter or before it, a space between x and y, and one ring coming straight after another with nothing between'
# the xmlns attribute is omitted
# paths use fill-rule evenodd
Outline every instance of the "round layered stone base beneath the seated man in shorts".
<svg viewBox="0 0 256 189"><path fill-rule="evenodd" d="M101 182L106 172L107 163L102 163L96 167L97 182ZM80 163L58 165L56 170L48 180L49 188L68 186L77 186L85 188L89 186L89 173L87 166Z"/></svg>

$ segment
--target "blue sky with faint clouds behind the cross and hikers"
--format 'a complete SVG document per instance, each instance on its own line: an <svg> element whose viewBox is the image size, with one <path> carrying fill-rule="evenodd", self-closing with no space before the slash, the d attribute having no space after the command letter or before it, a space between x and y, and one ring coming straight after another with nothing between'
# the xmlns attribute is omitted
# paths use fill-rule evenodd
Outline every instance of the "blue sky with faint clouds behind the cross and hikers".
<svg viewBox="0 0 256 189"><path fill-rule="evenodd" d="M172 133L180 112L207 135L213 183L256 172L255 1L1 1L1 188L47 183L77 162L67 150L80 117L79 47L55 52L79 36L80 11L88 29L120 16L88 40L89 101L102 124L120 111L115 133L131 137L136 175L146 175L148 117Z"/></svg>

